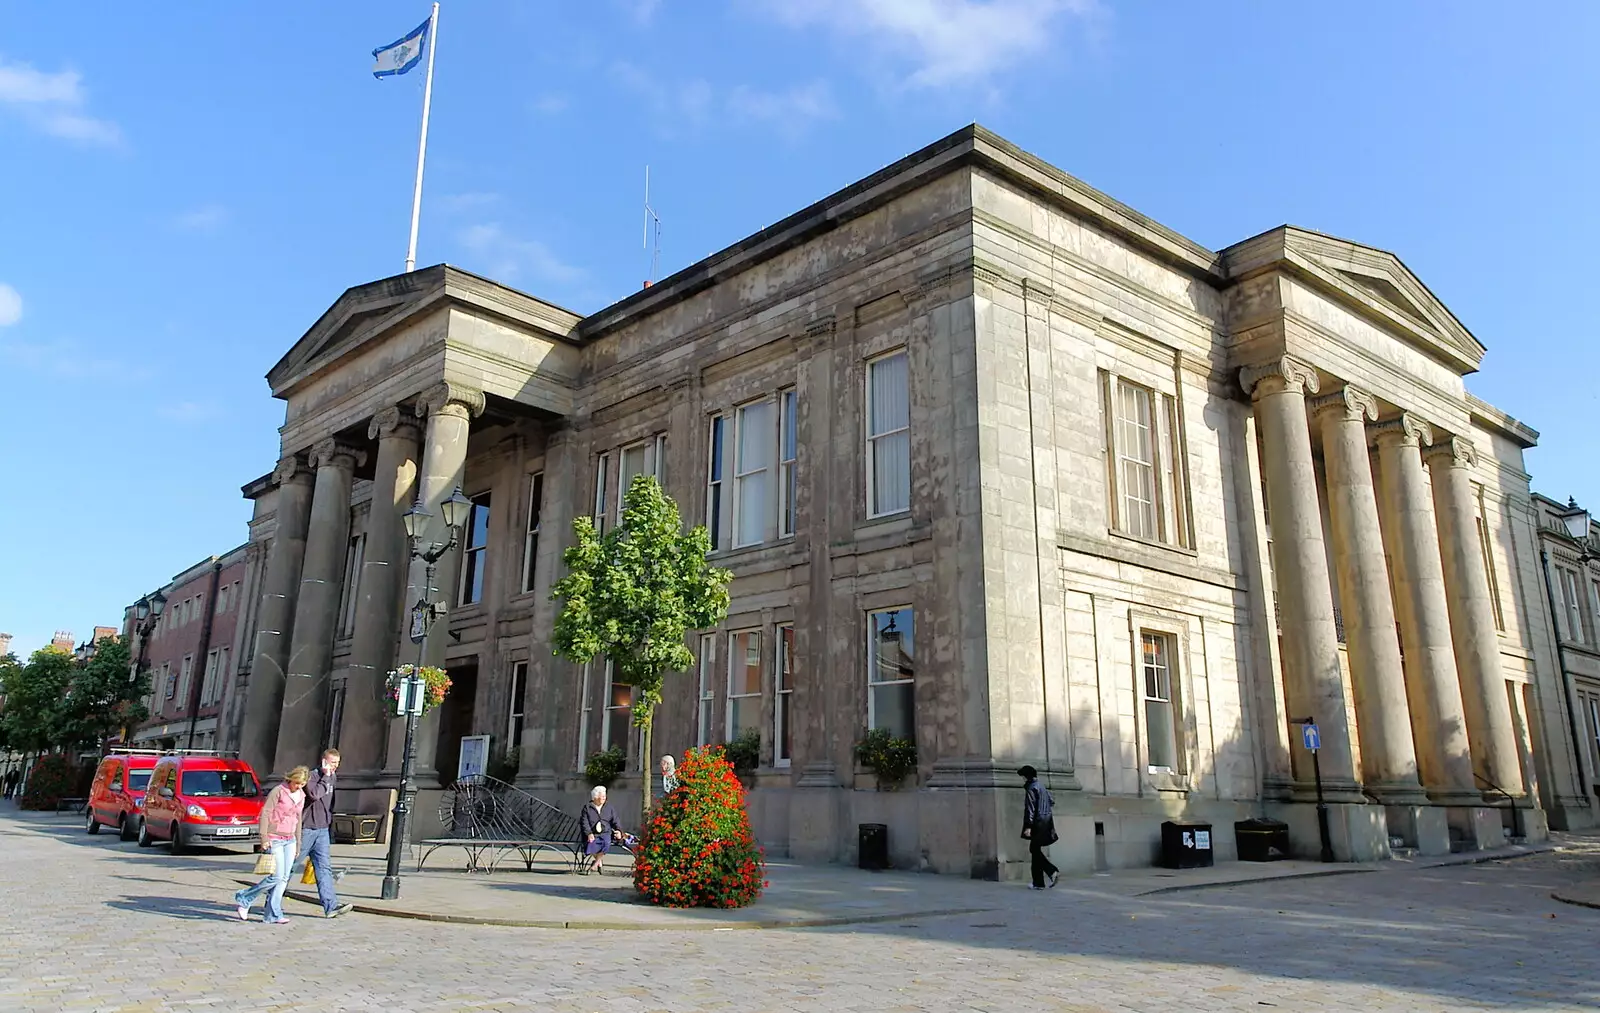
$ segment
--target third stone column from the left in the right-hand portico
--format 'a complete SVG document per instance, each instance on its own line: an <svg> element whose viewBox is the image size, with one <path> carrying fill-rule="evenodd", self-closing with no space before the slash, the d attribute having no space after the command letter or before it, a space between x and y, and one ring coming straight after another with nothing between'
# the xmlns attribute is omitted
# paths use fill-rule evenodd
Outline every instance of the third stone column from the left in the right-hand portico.
<svg viewBox="0 0 1600 1013"><path fill-rule="evenodd" d="M1438 531L1429 509L1419 451L1419 442L1432 442L1432 430L1413 414L1378 422L1371 430L1378 438L1382 509L1392 536L1389 559L1394 563L1405 685L1411 698L1411 731L1422 787L1440 805L1480 805L1472 784L1472 754L1450 639Z"/></svg>

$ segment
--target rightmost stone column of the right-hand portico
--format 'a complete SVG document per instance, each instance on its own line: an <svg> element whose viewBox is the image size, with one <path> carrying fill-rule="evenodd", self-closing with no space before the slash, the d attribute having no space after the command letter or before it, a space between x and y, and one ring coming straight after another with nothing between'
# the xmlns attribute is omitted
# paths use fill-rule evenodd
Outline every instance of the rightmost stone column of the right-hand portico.
<svg viewBox="0 0 1600 1013"><path fill-rule="evenodd" d="M1450 605L1472 767L1491 784L1522 795L1522 763L1510 703L1506 699L1506 677L1501 674L1494 603L1490 602L1490 581L1483 571L1472 509L1470 469L1475 462L1477 451L1462 437L1451 437L1427 450L1427 467L1434 475L1438 551L1445 563L1445 600Z"/></svg>

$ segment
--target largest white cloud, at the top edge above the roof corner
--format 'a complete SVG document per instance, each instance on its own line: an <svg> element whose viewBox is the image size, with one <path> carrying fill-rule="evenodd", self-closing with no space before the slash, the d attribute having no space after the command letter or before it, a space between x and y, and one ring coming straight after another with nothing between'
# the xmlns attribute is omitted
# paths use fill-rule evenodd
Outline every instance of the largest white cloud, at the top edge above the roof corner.
<svg viewBox="0 0 1600 1013"><path fill-rule="evenodd" d="M909 61L907 83L982 83L1054 42L1058 22L1086 18L1096 0L754 0L794 27L819 27Z"/></svg>

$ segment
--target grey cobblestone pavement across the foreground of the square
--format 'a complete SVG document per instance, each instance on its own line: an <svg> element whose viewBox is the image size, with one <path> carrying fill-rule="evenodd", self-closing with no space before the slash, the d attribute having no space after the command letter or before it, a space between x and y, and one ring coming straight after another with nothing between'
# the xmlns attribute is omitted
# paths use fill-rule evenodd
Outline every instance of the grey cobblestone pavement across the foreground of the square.
<svg viewBox="0 0 1600 1013"><path fill-rule="evenodd" d="M995 885L994 912L842 928L328 922L304 906L272 927L237 922L218 872L6 807L0 1010L1592 1010L1600 911L1550 899L1600 874L1587 847L1144 898Z"/></svg>

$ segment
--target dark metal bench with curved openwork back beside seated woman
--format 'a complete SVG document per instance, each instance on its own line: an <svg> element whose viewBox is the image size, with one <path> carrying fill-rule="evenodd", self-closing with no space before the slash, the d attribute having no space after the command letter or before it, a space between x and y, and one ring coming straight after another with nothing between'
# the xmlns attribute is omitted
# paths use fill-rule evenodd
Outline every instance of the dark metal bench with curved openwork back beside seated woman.
<svg viewBox="0 0 1600 1013"><path fill-rule="evenodd" d="M421 842L418 872L440 848L464 850L467 872L493 872L512 855L531 872L542 851L578 869L582 856L576 816L485 775L456 781L438 802L438 821L445 834Z"/></svg>

